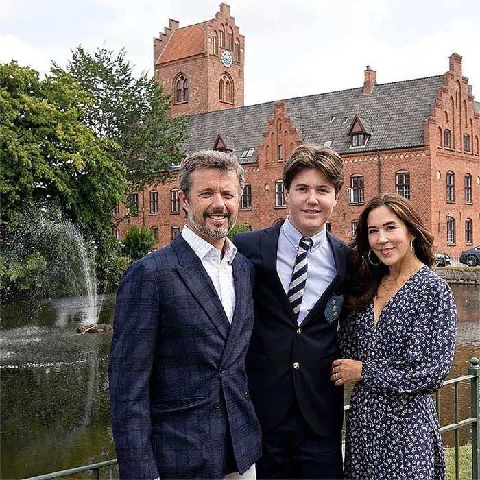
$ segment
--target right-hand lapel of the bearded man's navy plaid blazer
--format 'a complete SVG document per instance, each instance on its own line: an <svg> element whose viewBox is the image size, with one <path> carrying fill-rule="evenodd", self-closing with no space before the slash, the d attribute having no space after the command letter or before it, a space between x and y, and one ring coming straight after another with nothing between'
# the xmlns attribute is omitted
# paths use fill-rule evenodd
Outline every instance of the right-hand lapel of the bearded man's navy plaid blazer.
<svg viewBox="0 0 480 480"><path fill-rule="evenodd" d="M235 285L235 311L232 318L232 326L228 332L227 344L225 346L223 357L230 355L232 346L242 335L245 326L245 311L248 300L252 298L252 285L250 282L250 267L239 254L235 255L232 262L233 283Z"/></svg>

